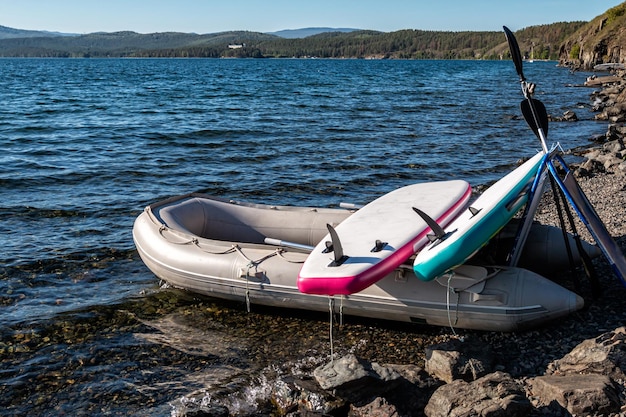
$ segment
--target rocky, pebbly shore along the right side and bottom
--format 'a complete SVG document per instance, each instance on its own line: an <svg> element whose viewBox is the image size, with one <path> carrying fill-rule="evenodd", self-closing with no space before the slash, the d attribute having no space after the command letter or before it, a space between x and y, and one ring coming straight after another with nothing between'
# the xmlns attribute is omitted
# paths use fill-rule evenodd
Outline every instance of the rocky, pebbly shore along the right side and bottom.
<svg viewBox="0 0 626 417"><path fill-rule="evenodd" d="M626 247L626 79L592 94L602 137L573 153L574 173L609 232ZM575 115L551 120L576 120ZM549 192L536 220L558 225ZM581 225L581 236L590 239ZM308 373L280 377L272 415L626 416L626 290L604 258L594 260L602 293L574 317L511 334L450 331L429 336L417 363L379 364L347 353ZM590 280L589 280L590 281ZM188 416L228 416L210 405Z"/></svg>

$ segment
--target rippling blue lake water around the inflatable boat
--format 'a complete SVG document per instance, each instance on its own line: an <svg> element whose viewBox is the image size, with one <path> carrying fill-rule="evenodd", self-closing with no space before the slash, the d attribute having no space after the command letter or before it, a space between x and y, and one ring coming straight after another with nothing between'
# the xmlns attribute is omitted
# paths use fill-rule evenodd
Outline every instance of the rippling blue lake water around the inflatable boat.
<svg viewBox="0 0 626 417"><path fill-rule="evenodd" d="M550 114L581 119L552 123L551 142L606 131L591 90L571 87L588 74L525 74ZM268 372L326 360L323 316L160 289L131 235L149 203L365 203L415 182L485 184L540 149L510 61L2 59L0 99L8 415L177 415L218 397L245 414Z"/></svg>

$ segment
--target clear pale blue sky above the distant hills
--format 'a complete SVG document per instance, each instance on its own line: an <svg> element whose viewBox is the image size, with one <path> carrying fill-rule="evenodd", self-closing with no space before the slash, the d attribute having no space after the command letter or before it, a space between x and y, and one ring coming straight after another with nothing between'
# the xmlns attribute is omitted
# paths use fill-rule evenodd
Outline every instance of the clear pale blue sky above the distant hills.
<svg viewBox="0 0 626 417"><path fill-rule="evenodd" d="M393 32L516 31L589 21L620 0L0 0L0 25L63 33L275 32L332 27Z"/></svg>

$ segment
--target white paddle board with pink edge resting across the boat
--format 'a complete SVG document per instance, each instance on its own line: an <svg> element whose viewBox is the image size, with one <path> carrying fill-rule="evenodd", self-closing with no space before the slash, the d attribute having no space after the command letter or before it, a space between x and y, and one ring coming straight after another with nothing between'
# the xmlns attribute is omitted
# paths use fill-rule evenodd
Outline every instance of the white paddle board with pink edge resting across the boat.
<svg viewBox="0 0 626 417"><path fill-rule="evenodd" d="M415 208L442 227L465 209L466 181L437 181L399 188L359 209L313 249L298 275L306 294L347 295L385 277L429 242L432 233Z"/></svg>

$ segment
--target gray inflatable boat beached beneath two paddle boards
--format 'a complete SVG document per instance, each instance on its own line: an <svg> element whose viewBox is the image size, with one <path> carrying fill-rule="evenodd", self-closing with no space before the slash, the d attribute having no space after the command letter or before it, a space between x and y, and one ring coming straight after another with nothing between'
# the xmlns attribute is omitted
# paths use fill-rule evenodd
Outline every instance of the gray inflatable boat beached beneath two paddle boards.
<svg viewBox="0 0 626 417"><path fill-rule="evenodd" d="M298 272L310 247L327 234L326 224L337 225L350 214L187 194L146 207L133 238L143 262L172 287L248 306L328 311L327 296L298 291ZM423 282L409 259L376 284L335 297L330 305L345 315L513 331L568 315L582 308L583 300L522 268L463 265Z"/></svg>

